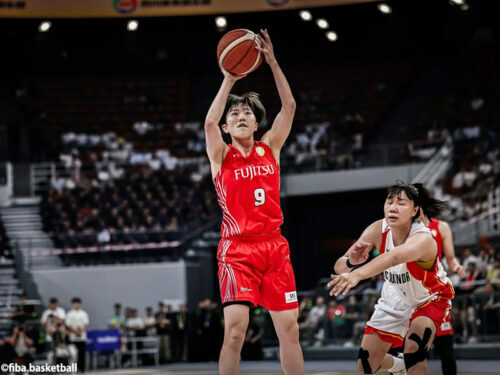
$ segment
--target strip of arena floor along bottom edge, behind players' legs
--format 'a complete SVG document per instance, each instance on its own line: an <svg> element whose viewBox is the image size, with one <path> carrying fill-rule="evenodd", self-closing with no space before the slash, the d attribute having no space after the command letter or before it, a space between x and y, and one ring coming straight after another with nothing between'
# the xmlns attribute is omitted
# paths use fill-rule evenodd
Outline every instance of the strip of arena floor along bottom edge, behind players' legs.
<svg viewBox="0 0 500 375"><path fill-rule="evenodd" d="M460 375L500 374L500 361L458 361ZM307 361L307 375L354 375L359 374L353 361ZM440 363L430 361L431 375L441 374ZM115 371L99 371L87 375L216 375L217 363L180 363L160 366L157 368L127 369ZM242 362L242 375L279 375L283 374L279 362ZM383 374L383 373L380 373Z"/></svg>

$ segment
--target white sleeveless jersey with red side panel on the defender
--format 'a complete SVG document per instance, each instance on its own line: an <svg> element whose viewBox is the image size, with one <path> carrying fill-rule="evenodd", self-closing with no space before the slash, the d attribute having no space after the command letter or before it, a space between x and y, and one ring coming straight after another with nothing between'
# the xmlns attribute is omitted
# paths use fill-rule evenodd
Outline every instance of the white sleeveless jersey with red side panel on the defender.
<svg viewBox="0 0 500 375"><path fill-rule="evenodd" d="M431 235L429 228L416 220L408 237L421 232ZM394 247L391 227L384 219L380 253L393 251ZM416 262L398 264L384 271L384 279L381 299L400 311L421 306L428 301L448 300L454 296L453 286L439 261L429 270L424 270Z"/></svg>

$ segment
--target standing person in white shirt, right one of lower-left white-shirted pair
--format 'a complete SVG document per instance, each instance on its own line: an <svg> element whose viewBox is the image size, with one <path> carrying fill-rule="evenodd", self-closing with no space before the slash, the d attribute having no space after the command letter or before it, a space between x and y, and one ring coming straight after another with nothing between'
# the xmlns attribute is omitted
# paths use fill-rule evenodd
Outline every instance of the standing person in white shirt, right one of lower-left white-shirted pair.
<svg viewBox="0 0 500 375"><path fill-rule="evenodd" d="M66 327L69 332L70 342L78 349L78 371L85 372L85 351L89 316L81 308L82 300L75 297L71 300L72 309L66 316Z"/></svg>

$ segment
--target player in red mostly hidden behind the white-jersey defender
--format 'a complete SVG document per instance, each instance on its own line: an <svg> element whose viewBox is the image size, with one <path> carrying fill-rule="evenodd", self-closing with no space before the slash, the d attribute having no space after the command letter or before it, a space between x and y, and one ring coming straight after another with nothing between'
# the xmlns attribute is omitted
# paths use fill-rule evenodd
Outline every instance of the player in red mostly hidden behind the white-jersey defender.
<svg viewBox="0 0 500 375"><path fill-rule="evenodd" d="M428 219L423 213L420 219L431 230L431 234L438 245L438 259L441 261L444 256L451 271L458 273L463 279L465 277L464 266L460 265L455 257L453 247L453 236L448 223L437 219ZM446 320L438 327L436 338L434 339L434 349L441 358L441 370L443 375L456 375L457 362L453 350L453 327L451 325L450 314L446 315Z"/></svg>

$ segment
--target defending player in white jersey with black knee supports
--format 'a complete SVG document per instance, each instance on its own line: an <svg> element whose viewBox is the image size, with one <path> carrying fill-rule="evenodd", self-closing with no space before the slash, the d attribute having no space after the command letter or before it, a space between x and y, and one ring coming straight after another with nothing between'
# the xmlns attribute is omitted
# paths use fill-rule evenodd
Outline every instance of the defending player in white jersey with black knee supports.
<svg viewBox="0 0 500 375"><path fill-rule="evenodd" d="M438 327L449 314L453 287L437 260L437 244L419 220L420 211L435 217L445 203L431 198L422 184L391 186L384 219L365 229L339 258L328 286L331 295L346 294L360 280L384 274L382 296L367 322L358 355L364 374L380 369L404 374L428 374L427 352ZM380 255L363 265L373 247ZM404 343L403 358L387 354Z"/></svg>

